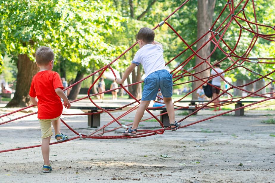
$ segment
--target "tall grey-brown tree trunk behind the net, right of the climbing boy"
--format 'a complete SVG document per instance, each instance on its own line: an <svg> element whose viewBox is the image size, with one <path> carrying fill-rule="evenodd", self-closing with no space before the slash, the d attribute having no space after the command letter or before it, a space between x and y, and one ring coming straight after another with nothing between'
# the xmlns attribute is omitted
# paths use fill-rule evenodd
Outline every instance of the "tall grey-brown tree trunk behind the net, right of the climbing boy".
<svg viewBox="0 0 275 183"><path fill-rule="evenodd" d="M201 37L205 32L210 29L212 25L212 20L213 20L213 13L214 13L214 8L215 8L216 0L198 0L198 12L197 12L197 39ZM200 48L210 37L210 34L207 36L203 37L199 42L197 42L197 49ZM205 58L210 54L210 42L205 45L199 52L198 54ZM196 57L195 65L199 64L202 60ZM210 58L207 60L210 62ZM193 65L193 66L195 66ZM197 67L195 69L195 72L199 72L201 70L204 70L208 67L208 64L204 63ZM204 78L207 76L210 76L210 70L206 70L202 73L199 73L196 75L198 78ZM197 78L194 78L195 80ZM195 89L199 85L202 84L202 81L197 81L192 83L192 88ZM197 99L197 93L193 92L192 93L192 100Z"/></svg>

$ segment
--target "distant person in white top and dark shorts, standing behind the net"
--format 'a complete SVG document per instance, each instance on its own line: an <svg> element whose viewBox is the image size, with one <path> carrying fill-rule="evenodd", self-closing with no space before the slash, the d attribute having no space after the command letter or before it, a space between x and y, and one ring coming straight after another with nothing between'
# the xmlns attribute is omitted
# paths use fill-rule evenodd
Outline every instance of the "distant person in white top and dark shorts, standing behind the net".
<svg viewBox="0 0 275 183"><path fill-rule="evenodd" d="M215 70L219 73L221 72L224 72L224 70L220 69L220 64L217 64L214 66ZM216 75L217 73L214 71L214 70L211 70L211 75L210 76L213 76L213 75ZM222 76L224 76L224 73L221 74ZM221 91L221 77L220 76L216 76L215 78L212 79L212 85L216 86L216 87L213 87L212 86L212 93L213 93L213 98L216 98L219 94L220 94L220 91ZM216 100L214 100L214 105L219 105L219 98L217 98ZM219 107L218 109L219 111L221 110L221 107ZM216 110L216 107L215 107L215 110L214 111L217 111Z"/></svg>

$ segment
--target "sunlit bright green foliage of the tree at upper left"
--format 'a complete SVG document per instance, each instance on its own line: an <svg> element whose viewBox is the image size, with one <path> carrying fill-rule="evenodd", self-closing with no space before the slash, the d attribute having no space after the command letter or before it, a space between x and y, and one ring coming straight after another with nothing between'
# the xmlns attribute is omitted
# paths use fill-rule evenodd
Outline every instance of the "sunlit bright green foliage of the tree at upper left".
<svg viewBox="0 0 275 183"><path fill-rule="evenodd" d="M124 21L109 0L1 1L0 14L0 50L15 60L18 54L34 60L36 48L46 45L74 72L80 67L89 71L125 49L106 42L106 37L122 30Z"/></svg>

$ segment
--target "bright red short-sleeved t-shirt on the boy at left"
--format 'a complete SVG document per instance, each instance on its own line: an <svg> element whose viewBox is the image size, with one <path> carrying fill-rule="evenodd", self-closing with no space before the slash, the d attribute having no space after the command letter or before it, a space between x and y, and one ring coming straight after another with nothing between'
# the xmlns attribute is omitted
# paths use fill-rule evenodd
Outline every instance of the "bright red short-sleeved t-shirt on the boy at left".
<svg viewBox="0 0 275 183"><path fill-rule="evenodd" d="M62 114L63 106L56 88L64 89L57 72L40 71L32 78L29 95L38 99L38 119L53 119Z"/></svg>

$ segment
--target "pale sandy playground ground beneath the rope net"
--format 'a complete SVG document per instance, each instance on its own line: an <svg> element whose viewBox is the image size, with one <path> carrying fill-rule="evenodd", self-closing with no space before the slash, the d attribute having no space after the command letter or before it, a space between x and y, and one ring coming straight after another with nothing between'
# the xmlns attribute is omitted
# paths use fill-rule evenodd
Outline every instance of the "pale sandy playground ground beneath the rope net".
<svg viewBox="0 0 275 183"><path fill-rule="evenodd" d="M7 111L2 110L3 113ZM184 117L179 113L176 112L177 120ZM17 113L9 118L25 114ZM204 110L183 124L214 114L216 112ZM124 119L131 120L133 115ZM42 173L40 148L5 152L0 154L0 182L275 182L275 137L270 136L275 133L275 125L261 123L274 115L274 111L247 111L242 117L220 116L146 138L77 139L52 145L51 173ZM149 114L145 113L146 116ZM87 116L63 119L83 134L95 130L87 128ZM101 125L111 121L108 114L103 114L101 119ZM117 126L113 124L108 129ZM159 124L143 122L140 125L144 129L153 127ZM105 135L121 132L122 129ZM62 133L76 136L63 124ZM0 150L41 142L36 116L1 125L0 134ZM161 157L164 154L169 158ZM240 163L242 166L238 166Z"/></svg>

